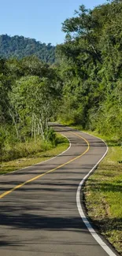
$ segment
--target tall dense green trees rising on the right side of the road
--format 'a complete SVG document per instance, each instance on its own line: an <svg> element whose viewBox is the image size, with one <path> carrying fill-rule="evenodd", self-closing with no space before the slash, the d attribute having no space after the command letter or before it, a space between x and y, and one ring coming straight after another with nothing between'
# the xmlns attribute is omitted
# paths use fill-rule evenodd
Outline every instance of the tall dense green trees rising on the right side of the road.
<svg viewBox="0 0 122 256"><path fill-rule="evenodd" d="M122 2L79 6L57 46L64 81L60 118L122 139Z"/></svg>

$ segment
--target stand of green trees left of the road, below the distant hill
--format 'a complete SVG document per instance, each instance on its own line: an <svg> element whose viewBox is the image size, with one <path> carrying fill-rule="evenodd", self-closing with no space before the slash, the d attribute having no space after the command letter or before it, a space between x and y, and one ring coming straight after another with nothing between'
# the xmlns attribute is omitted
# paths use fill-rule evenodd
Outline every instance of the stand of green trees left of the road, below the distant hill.
<svg viewBox="0 0 122 256"><path fill-rule="evenodd" d="M56 143L48 124L61 98L55 69L36 57L0 59L0 95L0 161L28 155L19 143Z"/></svg>

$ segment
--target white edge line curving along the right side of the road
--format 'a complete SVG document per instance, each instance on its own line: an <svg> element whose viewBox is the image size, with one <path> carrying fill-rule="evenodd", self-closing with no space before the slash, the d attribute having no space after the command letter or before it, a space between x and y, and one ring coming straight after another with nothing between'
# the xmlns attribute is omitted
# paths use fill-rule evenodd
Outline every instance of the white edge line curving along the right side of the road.
<svg viewBox="0 0 122 256"><path fill-rule="evenodd" d="M81 131L79 131L81 132ZM86 133L87 135L91 135L91 134L88 134L87 132L83 132L83 133ZM98 138L94 135L91 135L93 136L94 138ZM100 139L100 138L98 138ZM103 139L101 139L103 143L105 143L105 141ZM81 180L81 182L79 183L79 187L76 191L76 205L77 205L77 208L79 210L79 215L80 217L82 218L83 220L83 223L86 225L88 231L91 233L91 235L94 237L94 239L98 242L98 244L103 248L103 250L105 250L105 252L107 254L109 254L109 256L116 256L116 254L113 253L113 250L111 250L109 248L109 246L103 242L102 238L100 236L98 236L98 234L95 232L94 228L92 228L90 222L87 220L87 217L86 215L83 213L83 208L81 206L81 203L80 203L80 191L81 191L81 188L83 187L83 184L84 182L87 180L87 178L94 172L94 169L98 166L98 164L102 161L103 158L105 158L105 155L108 153L108 146L106 145L105 143L105 146L106 146L106 151L105 151L105 154L102 156L102 158L97 162L96 165L94 165L94 167L91 169L91 171L83 178L83 180Z"/></svg>

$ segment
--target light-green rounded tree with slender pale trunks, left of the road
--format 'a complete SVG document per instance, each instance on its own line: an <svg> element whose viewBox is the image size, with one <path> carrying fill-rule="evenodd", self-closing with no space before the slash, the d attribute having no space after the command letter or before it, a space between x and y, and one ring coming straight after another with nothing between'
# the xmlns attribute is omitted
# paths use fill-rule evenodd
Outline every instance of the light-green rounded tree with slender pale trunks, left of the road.
<svg viewBox="0 0 122 256"><path fill-rule="evenodd" d="M48 121L54 113L54 102L59 97L57 81L48 77L24 76L13 85L9 94L11 117L17 131L17 137L31 134L48 139ZM57 98L58 98L57 97Z"/></svg>

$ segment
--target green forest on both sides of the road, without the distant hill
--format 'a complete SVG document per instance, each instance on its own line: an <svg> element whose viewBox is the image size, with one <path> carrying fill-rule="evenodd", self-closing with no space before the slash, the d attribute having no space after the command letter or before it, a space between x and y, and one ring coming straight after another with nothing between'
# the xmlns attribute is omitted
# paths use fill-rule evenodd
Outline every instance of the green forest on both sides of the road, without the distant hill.
<svg viewBox="0 0 122 256"><path fill-rule="evenodd" d="M62 24L65 43L54 65L35 55L0 59L1 161L20 156L11 153L18 142L54 138L49 121L80 124L121 143L121 28L121 1L79 6Z"/></svg>

